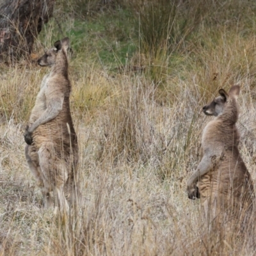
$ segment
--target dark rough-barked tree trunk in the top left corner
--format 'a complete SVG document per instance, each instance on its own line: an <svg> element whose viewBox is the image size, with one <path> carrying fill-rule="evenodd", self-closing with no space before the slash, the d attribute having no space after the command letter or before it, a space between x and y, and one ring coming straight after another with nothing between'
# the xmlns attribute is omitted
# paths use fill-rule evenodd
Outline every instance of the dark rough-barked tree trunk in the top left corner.
<svg viewBox="0 0 256 256"><path fill-rule="evenodd" d="M29 57L55 0L0 0L0 61Z"/></svg>

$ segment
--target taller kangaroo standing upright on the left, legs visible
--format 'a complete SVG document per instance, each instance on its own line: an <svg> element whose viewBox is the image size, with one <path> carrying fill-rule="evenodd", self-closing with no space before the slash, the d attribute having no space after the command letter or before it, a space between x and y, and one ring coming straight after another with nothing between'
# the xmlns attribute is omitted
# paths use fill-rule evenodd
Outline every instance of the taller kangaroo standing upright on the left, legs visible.
<svg viewBox="0 0 256 256"><path fill-rule="evenodd" d="M77 136L69 103L68 47L69 39L63 38L38 60L38 65L51 67L51 72L42 80L24 132L26 160L42 190L45 207L54 205L50 195L54 191L60 211L68 210L65 193L74 199L78 164Z"/></svg>

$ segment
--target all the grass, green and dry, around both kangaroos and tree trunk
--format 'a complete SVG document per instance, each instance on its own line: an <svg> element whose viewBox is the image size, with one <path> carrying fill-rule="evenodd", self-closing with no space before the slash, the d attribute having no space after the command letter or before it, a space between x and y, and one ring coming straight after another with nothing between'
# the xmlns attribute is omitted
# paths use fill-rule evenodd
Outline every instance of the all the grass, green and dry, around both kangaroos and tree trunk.
<svg viewBox="0 0 256 256"><path fill-rule="evenodd" d="M186 195L211 120L201 109L233 84L256 182L255 12L250 0L57 0L33 61L0 64L0 255L255 255L252 234L205 236ZM61 221L22 134L49 72L34 60L65 36L83 199Z"/></svg>

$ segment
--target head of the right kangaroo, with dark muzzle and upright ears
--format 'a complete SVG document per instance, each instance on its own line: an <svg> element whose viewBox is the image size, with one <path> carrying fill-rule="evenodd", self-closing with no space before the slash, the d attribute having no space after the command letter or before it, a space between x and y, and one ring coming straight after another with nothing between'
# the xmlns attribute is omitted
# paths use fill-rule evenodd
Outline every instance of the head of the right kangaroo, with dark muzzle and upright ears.
<svg viewBox="0 0 256 256"><path fill-rule="evenodd" d="M212 100L211 103L204 106L203 111L205 115L208 116L219 116L223 113L225 106L227 106L230 100L232 102L236 102L240 92L240 86L234 85L230 88L229 92L227 93L224 89L220 89L219 93L220 96L216 97Z"/></svg>

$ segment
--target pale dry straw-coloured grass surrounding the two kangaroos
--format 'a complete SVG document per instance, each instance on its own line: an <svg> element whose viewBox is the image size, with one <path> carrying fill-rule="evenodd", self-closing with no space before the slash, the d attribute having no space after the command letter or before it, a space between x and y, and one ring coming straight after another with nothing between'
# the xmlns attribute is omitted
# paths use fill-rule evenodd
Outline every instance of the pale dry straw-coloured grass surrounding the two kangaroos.
<svg viewBox="0 0 256 256"><path fill-rule="evenodd" d="M24 125L48 70L1 67L0 255L253 255L252 234L205 236L199 202L186 195L211 119L202 106L236 83L241 154L256 182L255 35L235 32L202 30L179 65L159 65L161 86L150 67L113 76L90 55L70 61L83 198L66 221L42 207L24 157Z"/></svg>

